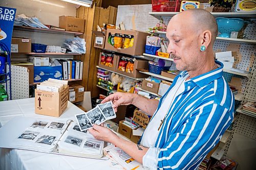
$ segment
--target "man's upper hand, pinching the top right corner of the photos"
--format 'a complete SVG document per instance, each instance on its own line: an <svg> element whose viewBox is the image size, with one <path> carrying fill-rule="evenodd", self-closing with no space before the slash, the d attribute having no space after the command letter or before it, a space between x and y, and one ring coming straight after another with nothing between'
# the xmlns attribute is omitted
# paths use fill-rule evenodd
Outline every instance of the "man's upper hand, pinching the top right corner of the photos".
<svg viewBox="0 0 256 170"><path fill-rule="evenodd" d="M137 94L134 93L115 92L114 94L107 96L101 103L112 101L112 107L114 108L115 112L117 112L118 106L133 104L136 96Z"/></svg>

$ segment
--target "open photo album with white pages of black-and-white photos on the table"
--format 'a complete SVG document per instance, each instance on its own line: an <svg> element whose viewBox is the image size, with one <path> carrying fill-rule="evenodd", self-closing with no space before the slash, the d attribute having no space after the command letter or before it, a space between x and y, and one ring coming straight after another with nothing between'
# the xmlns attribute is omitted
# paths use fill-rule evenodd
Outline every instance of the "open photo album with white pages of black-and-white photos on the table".
<svg viewBox="0 0 256 170"><path fill-rule="evenodd" d="M104 141L81 132L71 119L15 117L0 128L0 136L0 148L108 159L103 157Z"/></svg>

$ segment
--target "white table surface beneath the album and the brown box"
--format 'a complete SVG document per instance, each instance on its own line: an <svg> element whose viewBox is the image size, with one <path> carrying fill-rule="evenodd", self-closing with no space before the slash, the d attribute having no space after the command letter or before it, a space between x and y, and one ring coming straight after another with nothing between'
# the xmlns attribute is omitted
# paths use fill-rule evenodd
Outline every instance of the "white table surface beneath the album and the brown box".
<svg viewBox="0 0 256 170"><path fill-rule="evenodd" d="M35 114L34 98L0 102L0 128L15 116L47 118L50 116ZM68 102L68 108L60 118L71 118L83 111ZM52 117L51 117L52 118ZM17 127L18 128L18 127ZM1 137L0 137L1 138ZM47 154L27 150L0 148L0 169L117 169L110 166L110 160L80 158L56 154Z"/></svg>

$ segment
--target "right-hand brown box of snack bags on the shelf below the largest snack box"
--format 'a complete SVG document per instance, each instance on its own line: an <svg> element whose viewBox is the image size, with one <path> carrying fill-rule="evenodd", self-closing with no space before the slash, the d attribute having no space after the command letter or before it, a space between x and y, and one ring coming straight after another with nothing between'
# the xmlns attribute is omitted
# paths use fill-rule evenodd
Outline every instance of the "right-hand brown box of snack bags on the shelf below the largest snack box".
<svg viewBox="0 0 256 170"><path fill-rule="evenodd" d="M132 77L132 78L148 77L147 75L145 75L145 74L139 72L139 70L137 70L137 69L148 69L148 61L136 59L134 61L133 73L129 73L129 72L121 71L118 69L118 64L119 64L120 58L121 58L120 56L117 56L116 69L115 69L116 72L118 72L122 75L128 76L128 77Z"/></svg>

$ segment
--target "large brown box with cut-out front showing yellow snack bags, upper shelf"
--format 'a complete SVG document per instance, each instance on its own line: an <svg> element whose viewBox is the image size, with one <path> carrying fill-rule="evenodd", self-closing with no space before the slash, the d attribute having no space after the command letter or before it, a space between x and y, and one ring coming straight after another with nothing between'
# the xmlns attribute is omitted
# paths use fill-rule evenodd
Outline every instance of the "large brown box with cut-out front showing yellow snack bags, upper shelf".
<svg viewBox="0 0 256 170"><path fill-rule="evenodd" d="M122 34L122 35L133 35L134 36L134 44L132 47L125 49L116 49L108 42L108 38L110 34ZM129 54L129 55L142 55L145 52L145 43L146 36L148 33L132 31L132 30L116 30L116 29L108 29L106 30L106 38L105 38L105 49L111 50L118 53Z"/></svg>

